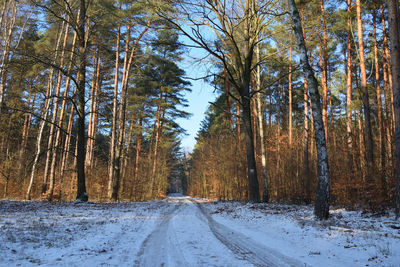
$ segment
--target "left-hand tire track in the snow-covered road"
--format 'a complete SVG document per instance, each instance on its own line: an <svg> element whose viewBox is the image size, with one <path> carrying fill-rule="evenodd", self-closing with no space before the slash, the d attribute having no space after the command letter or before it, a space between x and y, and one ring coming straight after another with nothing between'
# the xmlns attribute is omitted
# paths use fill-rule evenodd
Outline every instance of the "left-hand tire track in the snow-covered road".
<svg viewBox="0 0 400 267"><path fill-rule="evenodd" d="M167 234L170 221L181 206L179 202L169 214L164 214L157 228L143 241L135 266L189 266L182 251L174 244L174 238Z"/></svg>

